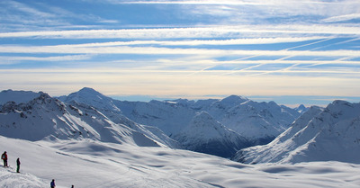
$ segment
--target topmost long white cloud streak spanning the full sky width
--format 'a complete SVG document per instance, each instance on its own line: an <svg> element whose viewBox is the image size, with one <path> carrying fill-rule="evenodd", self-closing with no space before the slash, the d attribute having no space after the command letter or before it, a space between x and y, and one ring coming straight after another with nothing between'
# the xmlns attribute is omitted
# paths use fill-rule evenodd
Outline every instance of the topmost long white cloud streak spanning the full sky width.
<svg viewBox="0 0 360 188"><path fill-rule="evenodd" d="M0 38L40 39L202 39L202 38L278 38L309 37L322 35L356 35L356 26L325 25L241 25L213 26L198 28L159 28L159 29L125 29L125 30L83 30L83 31L23 31L2 32Z"/></svg>

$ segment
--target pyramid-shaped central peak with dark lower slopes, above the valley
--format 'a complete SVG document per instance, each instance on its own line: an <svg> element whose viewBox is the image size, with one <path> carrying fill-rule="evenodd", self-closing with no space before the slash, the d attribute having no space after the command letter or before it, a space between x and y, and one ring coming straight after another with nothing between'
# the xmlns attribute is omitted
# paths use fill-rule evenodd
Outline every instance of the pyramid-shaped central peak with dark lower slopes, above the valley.
<svg viewBox="0 0 360 188"><path fill-rule="evenodd" d="M174 136L183 147L220 157L232 157L240 148L250 146L243 136L215 121L207 112L199 112Z"/></svg>

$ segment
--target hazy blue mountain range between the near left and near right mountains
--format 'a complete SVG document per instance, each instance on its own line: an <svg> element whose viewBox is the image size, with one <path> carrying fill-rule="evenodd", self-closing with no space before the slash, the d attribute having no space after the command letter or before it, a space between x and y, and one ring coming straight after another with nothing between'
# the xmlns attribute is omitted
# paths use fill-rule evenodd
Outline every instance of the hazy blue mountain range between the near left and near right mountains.
<svg viewBox="0 0 360 188"><path fill-rule="evenodd" d="M112 117L121 114L142 125L157 127L183 148L220 157L231 157L240 148L268 143L302 114L274 102L257 103L237 95L196 102L186 99L122 102L85 87L58 99L64 103L91 104L114 122ZM208 118L200 118L207 129L193 129L197 127L193 120L199 119L199 114L207 114ZM220 126L213 126L217 124Z"/></svg>

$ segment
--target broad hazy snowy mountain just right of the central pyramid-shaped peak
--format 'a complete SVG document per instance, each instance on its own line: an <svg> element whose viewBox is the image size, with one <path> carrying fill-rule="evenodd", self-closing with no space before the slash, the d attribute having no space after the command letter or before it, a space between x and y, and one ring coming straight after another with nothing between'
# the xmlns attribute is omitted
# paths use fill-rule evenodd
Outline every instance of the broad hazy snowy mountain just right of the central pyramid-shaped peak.
<svg viewBox="0 0 360 188"><path fill-rule="evenodd" d="M255 144L266 144L275 139L301 115L301 112L275 102L257 103L235 95L212 103L206 111Z"/></svg>

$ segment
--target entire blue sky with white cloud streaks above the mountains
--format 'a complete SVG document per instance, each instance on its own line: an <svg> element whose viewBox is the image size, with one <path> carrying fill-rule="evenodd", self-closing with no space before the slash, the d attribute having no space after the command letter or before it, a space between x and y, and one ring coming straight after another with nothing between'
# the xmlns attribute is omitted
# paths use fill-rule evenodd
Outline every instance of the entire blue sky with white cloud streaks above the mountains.
<svg viewBox="0 0 360 188"><path fill-rule="evenodd" d="M0 89L360 101L356 0L0 2Z"/></svg>

